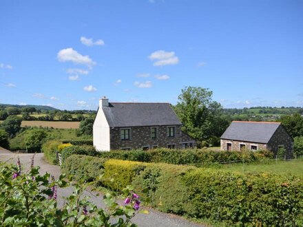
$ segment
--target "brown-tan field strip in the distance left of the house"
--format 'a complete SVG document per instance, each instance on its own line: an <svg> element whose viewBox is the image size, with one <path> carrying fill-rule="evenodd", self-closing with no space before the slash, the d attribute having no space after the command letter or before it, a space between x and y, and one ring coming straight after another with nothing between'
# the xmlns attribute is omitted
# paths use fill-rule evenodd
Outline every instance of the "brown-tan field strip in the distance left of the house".
<svg viewBox="0 0 303 227"><path fill-rule="evenodd" d="M80 122L23 120L21 127L53 127L54 129L79 129Z"/></svg>

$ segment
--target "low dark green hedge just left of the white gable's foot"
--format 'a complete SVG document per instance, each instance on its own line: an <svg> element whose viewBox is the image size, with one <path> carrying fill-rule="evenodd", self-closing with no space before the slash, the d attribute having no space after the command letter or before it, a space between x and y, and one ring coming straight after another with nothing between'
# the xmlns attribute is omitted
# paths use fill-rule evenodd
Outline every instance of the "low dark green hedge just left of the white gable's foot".
<svg viewBox="0 0 303 227"><path fill-rule="evenodd" d="M65 160L67 157L70 155L90 155L90 156L96 156L98 155L98 151L90 145L83 145L83 146L70 146L70 147L65 147L61 151L61 157L62 157L62 164L65 164Z"/></svg>

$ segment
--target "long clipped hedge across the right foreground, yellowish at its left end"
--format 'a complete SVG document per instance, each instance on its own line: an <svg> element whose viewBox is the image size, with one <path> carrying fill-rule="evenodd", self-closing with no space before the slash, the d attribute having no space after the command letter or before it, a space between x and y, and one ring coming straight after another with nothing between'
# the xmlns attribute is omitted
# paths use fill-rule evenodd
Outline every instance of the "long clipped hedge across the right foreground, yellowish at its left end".
<svg viewBox="0 0 303 227"><path fill-rule="evenodd" d="M73 159L73 163L77 163L76 169L87 165L87 161L81 162L77 155L72 157L67 158L67 162ZM98 158L92 159L98 162ZM227 221L231 225L303 224L303 182L292 176L245 175L194 166L123 160L108 160L103 166L100 173L104 171L104 186L120 191L132 184L143 201L167 213ZM70 165L65 171L70 173L72 169ZM82 178L85 174L85 171L79 173Z"/></svg>

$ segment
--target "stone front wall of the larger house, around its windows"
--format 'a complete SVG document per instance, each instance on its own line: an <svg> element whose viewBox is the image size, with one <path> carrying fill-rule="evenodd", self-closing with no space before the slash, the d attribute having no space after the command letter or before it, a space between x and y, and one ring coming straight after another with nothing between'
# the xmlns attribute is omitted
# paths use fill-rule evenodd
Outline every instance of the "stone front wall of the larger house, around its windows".
<svg viewBox="0 0 303 227"><path fill-rule="evenodd" d="M155 126L157 128L157 138L151 138L151 127L129 127L110 129L110 149L149 149L156 147L165 147L169 144L175 144L176 149L182 148L181 125ZM167 136L167 127L175 127L175 136ZM121 140L121 129L130 129L130 139ZM183 136L183 138L186 138Z"/></svg>

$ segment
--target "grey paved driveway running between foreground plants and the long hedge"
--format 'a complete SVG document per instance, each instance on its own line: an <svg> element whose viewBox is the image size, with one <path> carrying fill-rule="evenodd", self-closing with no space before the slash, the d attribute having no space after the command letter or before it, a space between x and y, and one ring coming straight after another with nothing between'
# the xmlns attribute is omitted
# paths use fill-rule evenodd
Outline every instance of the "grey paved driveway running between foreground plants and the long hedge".
<svg viewBox="0 0 303 227"><path fill-rule="evenodd" d="M32 160L32 153L12 153L11 151L2 149L0 147L0 161L1 162L13 162L17 163L17 157L19 156L20 162L24 169L27 169L30 167L30 162ZM48 162L45 161L43 153L36 153L34 156L34 165L40 166L40 173L50 173L54 175L54 177L59 177L61 174L61 170L59 166L54 166L51 164L48 164ZM67 197L72 193L73 188L67 187L67 188L59 188L58 189L58 205L63 205L63 197ZM89 196L97 206L104 207L104 204L102 203L102 196L96 197L94 194L90 193L89 191L86 191L84 193L85 195ZM198 227L203 226L201 224L196 224L192 221L187 221L186 219L179 217L177 215L171 215L166 213L160 213L157 210L151 209L151 208L145 208L149 211L148 215L145 214L138 214L136 217L132 219L133 223L137 224L138 226L143 227L156 227L156 226L184 226L184 227Z"/></svg>

